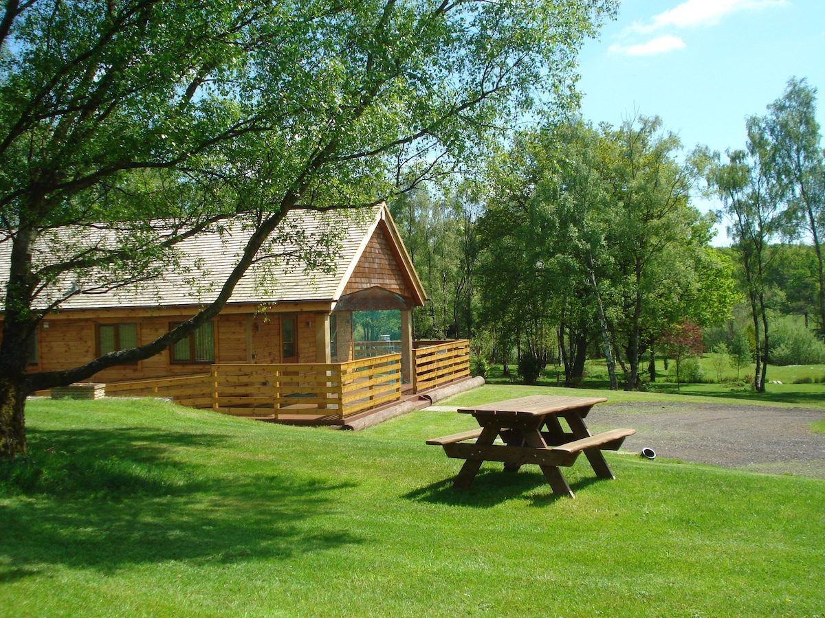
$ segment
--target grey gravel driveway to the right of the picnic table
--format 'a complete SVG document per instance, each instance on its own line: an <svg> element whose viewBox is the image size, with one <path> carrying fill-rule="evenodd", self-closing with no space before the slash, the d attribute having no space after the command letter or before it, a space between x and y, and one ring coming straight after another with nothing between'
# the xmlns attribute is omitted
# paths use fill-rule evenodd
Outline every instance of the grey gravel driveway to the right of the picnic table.
<svg viewBox="0 0 825 618"><path fill-rule="evenodd" d="M761 405L632 403L599 405L587 417L594 433L632 427L622 450L770 474L825 479L825 434L808 425L825 410Z"/></svg>

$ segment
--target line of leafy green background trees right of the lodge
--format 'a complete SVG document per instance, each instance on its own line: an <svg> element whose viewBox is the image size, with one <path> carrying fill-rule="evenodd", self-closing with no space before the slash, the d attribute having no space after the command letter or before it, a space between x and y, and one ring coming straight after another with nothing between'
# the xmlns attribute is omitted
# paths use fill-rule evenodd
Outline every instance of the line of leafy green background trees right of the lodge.
<svg viewBox="0 0 825 618"><path fill-rule="evenodd" d="M702 330L716 352L747 346L757 390L766 361L825 362L814 95L791 80L724 163L703 147L684 157L655 117L576 118L518 134L460 186L399 197L430 295L416 336L469 337L482 371L502 363L526 382L555 364L575 384L599 357L611 386L634 388L655 379L657 351L700 350ZM719 213L691 204L698 190ZM730 247L710 245L719 218Z"/></svg>

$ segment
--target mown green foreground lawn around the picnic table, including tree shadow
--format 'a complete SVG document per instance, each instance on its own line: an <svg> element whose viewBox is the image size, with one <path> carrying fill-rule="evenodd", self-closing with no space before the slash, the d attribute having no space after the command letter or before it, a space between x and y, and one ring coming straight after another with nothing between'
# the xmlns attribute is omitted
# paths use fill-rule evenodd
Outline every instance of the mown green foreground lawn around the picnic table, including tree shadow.
<svg viewBox="0 0 825 618"><path fill-rule="evenodd" d="M608 453L614 481L566 471L576 499L494 464L455 490L424 440L472 422L32 401L0 616L825 616L825 481Z"/></svg>

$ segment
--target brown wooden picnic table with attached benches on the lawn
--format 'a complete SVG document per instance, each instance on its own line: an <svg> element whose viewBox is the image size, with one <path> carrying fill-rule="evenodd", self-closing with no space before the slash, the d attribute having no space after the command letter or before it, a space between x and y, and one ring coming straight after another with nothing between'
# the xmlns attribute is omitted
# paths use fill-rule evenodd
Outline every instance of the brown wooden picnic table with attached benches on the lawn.
<svg viewBox="0 0 825 618"><path fill-rule="evenodd" d="M469 487L484 461L501 461L508 471L537 464L554 494L573 498L559 466L573 466L584 452L598 478L614 479L602 451L618 450L625 438L636 433L635 429L590 433L584 419L604 401L603 397L534 395L459 408L460 414L472 414L479 428L432 438L427 444L444 447L448 457L466 460L455 477L456 487ZM566 421L568 430L559 419Z"/></svg>

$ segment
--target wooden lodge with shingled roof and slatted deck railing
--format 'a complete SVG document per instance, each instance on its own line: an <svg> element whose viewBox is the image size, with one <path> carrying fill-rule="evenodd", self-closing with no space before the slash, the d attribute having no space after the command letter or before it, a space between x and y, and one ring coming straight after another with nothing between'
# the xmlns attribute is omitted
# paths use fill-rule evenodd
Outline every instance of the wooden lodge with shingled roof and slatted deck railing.
<svg viewBox="0 0 825 618"><path fill-rule="evenodd" d="M335 237L328 269L261 260L214 321L92 381L106 384L106 396L171 397L226 414L339 425L467 381L467 340L413 341L422 283L386 206L370 214L290 213L285 223L302 241ZM196 236L181 244L177 269L158 280L68 298L41 321L30 371L73 368L163 335L217 294L246 237L239 228ZM392 311L396 336L359 337L364 311Z"/></svg>

